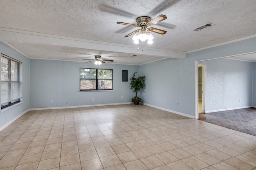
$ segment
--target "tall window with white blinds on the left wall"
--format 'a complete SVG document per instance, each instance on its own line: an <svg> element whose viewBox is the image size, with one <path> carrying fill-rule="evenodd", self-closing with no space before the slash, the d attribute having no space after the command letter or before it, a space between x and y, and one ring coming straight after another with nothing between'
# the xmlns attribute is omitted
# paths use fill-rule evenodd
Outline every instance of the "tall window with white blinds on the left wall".
<svg viewBox="0 0 256 170"><path fill-rule="evenodd" d="M1 109L20 99L20 62L1 54Z"/></svg>

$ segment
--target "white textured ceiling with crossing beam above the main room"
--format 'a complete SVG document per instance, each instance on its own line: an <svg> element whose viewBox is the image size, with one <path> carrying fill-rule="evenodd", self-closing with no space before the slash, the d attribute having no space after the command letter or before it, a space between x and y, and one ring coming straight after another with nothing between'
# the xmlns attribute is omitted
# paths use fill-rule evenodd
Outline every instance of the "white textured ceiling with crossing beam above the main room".
<svg viewBox="0 0 256 170"><path fill-rule="evenodd" d="M140 65L256 36L255 9L255 0L0 0L0 38L30 58L82 61L99 54ZM167 19L153 27L167 33L152 33L154 43L143 51L124 37L138 28L116 24L160 14ZM214 25L192 31L208 22Z"/></svg>

